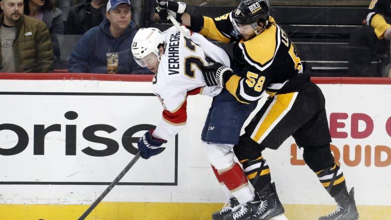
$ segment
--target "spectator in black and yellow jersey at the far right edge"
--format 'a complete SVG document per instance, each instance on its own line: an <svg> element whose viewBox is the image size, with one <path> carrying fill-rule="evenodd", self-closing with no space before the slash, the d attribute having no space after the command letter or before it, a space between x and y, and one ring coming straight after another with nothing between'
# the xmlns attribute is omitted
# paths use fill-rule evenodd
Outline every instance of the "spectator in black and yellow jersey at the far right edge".
<svg viewBox="0 0 391 220"><path fill-rule="evenodd" d="M349 37L349 76L382 76L371 69L374 57L390 52L391 0L372 0L366 27L359 27Z"/></svg>

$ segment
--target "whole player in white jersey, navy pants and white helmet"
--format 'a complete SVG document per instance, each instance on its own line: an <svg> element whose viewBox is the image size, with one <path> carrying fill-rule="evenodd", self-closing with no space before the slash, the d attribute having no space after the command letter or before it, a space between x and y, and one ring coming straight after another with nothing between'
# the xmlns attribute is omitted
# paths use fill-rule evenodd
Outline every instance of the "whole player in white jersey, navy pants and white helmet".
<svg viewBox="0 0 391 220"><path fill-rule="evenodd" d="M249 219L243 204L254 200L254 193L243 169L234 162L232 148L238 143L241 127L256 104L241 104L227 90L218 86L207 87L201 71L208 58L230 66L227 53L197 33L189 39L174 27L163 33L156 28L141 28L133 38L131 50L139 65L156 73L153 92L164 109L156 129L146 132L137 143L141 157L148 159L160 153L162 144L184 128L187 96L213 97L201 140L229 203L212 218Z"/></svg>

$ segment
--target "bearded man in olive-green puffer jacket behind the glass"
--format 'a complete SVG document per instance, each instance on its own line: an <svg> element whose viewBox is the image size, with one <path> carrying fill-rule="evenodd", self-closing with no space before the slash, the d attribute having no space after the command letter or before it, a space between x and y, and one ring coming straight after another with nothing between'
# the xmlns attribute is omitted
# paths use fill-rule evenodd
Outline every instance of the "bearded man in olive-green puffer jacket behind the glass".
<svg viewBox="0 0 391 220"><path fill-rule="evenodd" d="M23 15L23 0L2 0L0 72L51 72L53 48L46 24Z"/></svg>

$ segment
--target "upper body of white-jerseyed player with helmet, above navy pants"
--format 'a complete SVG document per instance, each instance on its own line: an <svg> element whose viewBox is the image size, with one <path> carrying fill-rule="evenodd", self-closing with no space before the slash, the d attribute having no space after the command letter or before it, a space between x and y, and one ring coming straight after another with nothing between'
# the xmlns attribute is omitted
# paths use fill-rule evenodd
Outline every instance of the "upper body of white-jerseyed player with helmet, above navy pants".
<svg viewBox="0 0 391 220"><path fill-rule="evenodd" d="M194 41L196 44L213 47L214 51L210 51L210 56L230 64L229 56L224 50L199 34L195 34L190 40L182 37L174 27L164 34L156 28L142 28L134 36L134 58L139 65L156 73L152 88L164 108L163 120L153 131L155 138L170 140L183 129L188 95L213 97L222 90L218 86L206 87L200 69L207 61L203 50Z"/></svg>

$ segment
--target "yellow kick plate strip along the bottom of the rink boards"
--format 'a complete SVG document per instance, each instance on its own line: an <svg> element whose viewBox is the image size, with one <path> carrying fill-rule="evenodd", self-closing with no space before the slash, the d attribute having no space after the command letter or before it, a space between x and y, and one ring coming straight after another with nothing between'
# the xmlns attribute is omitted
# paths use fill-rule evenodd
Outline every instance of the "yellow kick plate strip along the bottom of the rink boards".
<svg viewBox="0 0 391 220"><path fill-rule="evenodd" d="M86 220L210 220L222 203L100 203ZM1 220L76 220L88 205L0 205ZM290 220L315 220L334 205L284 204ZM360 220L390 220L391 206L357 206ZM305 214L305 215L304 215ZM300 216L300 218L298 218Z"/></svg>

